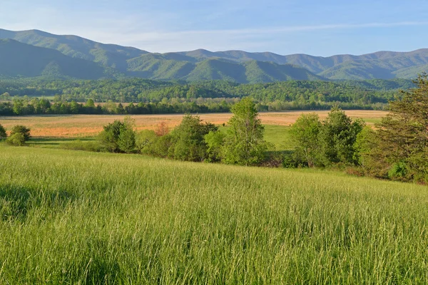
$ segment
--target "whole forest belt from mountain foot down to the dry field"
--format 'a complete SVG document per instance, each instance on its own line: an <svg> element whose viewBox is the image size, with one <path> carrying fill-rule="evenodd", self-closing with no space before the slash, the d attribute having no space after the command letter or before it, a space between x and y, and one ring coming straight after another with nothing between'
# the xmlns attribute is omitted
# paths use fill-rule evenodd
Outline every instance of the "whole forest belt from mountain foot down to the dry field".
<svg viewBox="0 0 428 285"><path fill-rule="evenodd" d="M403 79L369 81L285 81L239 84L228 81L121 81L4 79L0 115L151 114L228 112L240 98L251 97L259 111L387 109L399 90L414 87ZM90 105L84 104L89 100ZM103 103L92 105L94 103ZM115 104L120 103L120 104Z"/></svg>

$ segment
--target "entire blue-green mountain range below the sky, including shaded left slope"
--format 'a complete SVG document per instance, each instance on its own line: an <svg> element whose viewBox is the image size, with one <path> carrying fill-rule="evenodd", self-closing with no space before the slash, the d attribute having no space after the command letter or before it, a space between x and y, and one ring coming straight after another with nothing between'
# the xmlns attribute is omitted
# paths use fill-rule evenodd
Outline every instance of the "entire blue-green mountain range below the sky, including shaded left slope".
<svg viewBox="0 0 428 285"><path fill-rule="evenodd" d="M379 51L330 57L199 49L149 53L44 31L0 29L0 76L227 80L267 83L288 80L365 80L416 78L428 69L428 49Z"/></svg>

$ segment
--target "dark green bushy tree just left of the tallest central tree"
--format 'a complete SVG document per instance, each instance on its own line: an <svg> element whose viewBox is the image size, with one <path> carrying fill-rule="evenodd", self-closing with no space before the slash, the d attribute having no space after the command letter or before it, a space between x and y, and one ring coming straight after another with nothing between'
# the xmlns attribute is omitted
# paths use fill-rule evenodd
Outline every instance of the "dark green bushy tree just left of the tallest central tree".
<svg viewBox="0 0 428 285"><path fill-rule="evenodd" d="M177 160L203 161L207 157L204 136L218 128L211 123L202 123L198 115L185 115L180 125L171 133L173 157Z"/></svg>

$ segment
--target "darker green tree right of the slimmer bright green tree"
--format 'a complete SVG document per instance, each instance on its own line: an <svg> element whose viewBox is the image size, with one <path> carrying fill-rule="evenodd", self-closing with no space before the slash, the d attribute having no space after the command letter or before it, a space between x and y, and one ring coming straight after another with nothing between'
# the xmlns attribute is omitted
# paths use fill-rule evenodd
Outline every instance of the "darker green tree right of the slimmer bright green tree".
<svg viewBox="0 0 428 285"><path fill-rule="evenodd" d="M332 108L318 136L322 165L337 162L356 165L358 162L355 160L355 141L364 126L362 120L352 121L344 111Z"/></svg>

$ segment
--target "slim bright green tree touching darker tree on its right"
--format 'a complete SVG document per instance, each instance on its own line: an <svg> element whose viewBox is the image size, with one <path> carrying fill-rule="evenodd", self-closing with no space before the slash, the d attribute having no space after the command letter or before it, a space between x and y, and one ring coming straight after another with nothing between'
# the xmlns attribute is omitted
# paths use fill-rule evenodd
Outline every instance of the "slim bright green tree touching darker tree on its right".
<svg viewBox="0 0 428 285"><path fill-rule="evenodd" d="M316 113L302 114L297 118L290 130L297 161L305 161L309 167L315 165L320 152L318 135L321 128L320 117Z"/></svg>

